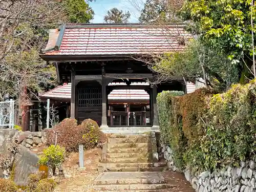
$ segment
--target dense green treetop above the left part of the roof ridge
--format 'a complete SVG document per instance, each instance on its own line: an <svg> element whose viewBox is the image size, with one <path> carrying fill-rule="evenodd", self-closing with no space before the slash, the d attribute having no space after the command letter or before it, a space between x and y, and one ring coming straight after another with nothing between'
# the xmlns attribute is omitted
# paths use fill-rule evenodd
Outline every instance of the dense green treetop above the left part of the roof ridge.
<svg viewBox="0 0 256 192"><path fill-rule="evenodd" d="M86 1L65 0L64 3L71 23L90 23L93 19L94 12Z"/></svg>

